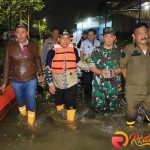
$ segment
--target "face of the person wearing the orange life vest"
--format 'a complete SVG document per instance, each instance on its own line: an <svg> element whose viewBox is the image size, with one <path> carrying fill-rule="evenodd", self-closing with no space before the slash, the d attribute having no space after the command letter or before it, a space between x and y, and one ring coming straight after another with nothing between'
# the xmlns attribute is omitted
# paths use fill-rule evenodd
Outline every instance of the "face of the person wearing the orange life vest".
<svg viewBox="0 0 150 150"><path fill-rule="evenodd" d="M68 45L70 44L70 36L69 35L63 35L59 38L59 44L63 48L67 48Z"/></svg>

